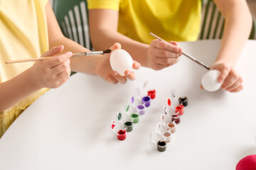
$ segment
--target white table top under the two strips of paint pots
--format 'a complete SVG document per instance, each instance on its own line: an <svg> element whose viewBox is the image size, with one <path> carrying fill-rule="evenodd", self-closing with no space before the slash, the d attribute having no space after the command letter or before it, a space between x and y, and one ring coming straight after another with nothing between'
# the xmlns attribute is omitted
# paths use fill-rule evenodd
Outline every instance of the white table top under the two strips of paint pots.
<svg viewBox="0 0 256 170"><path fill-rule="evenodd" d="M210 65L220 41L180 45ZM124 85L75 74L28 107L1 137L0 169L235 169L256 152L255 67L256 41L248 40L237 66L245 89L236 94L201 90L207 70L186 57L161 71L141 68L137 79ZM146 80L156 99L119 141L110 122ZM188 97L188 106L166 152L158 152L149 136L173 89Z"/></svg>

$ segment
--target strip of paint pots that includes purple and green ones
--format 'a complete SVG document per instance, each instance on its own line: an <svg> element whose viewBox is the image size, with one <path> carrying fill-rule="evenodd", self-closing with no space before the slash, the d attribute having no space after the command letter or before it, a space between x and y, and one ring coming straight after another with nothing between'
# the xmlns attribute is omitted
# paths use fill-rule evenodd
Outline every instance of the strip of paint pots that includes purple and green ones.
<svg viewBox="0 0 256 170"><path fill-rule="evenodd" d="M146 113L146 108L151 106L151 101L156 98L156 90L147 90L148 81L142 89L135 89L134 95L122 111L117 112L116 120L112 120L111 130L117 134L118 140L125 140L127 132L139 123L140 117Z"/></svg>

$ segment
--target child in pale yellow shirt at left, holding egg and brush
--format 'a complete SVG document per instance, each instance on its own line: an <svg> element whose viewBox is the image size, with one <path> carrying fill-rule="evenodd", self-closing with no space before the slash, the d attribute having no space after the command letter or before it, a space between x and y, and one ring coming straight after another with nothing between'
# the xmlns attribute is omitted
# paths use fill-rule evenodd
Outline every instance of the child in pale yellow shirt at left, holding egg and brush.
<svg viewBox="0 0 256 170"><path fill-rule="evenodd" d="M119 43L110 47L118 48ZM124 77L113 72L110 54L70 59L70 51L89 50L63 36L48 0L0 0L0 137L39 96L64 84L71 70L102 77L112 84L135 79L129 70ZM41 56L51 58L5 63ZM133 67L139 69L139 63L134 62Z"/></svg>

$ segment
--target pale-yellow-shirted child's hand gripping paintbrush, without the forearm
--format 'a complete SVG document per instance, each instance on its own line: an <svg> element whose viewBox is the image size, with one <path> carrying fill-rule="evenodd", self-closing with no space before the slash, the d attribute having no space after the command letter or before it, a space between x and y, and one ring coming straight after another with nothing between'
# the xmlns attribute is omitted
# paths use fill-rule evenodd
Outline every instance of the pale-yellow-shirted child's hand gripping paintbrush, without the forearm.
<svg viewBox="0 0 256 170"><path fill-rule="evenodd" d="M58 88L70 77L70 57L72 52L57 55L64 49L63 45L53 47L44 53L42 57L51 57L33 64L30 68L31 83L38 88ZM56 56L54 56L56 55Z"/></svg>

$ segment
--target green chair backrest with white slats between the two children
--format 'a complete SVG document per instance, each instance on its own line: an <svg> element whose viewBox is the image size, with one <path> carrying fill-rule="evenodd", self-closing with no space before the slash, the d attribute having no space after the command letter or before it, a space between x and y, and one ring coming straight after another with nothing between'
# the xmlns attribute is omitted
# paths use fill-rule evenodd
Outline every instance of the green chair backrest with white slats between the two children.
<svg viewBox="0 0 256 170"><path fill-rule="evenodd" d="M53 11L65 37L92 50L90 42L87 1L54 0Z"/></svg>

